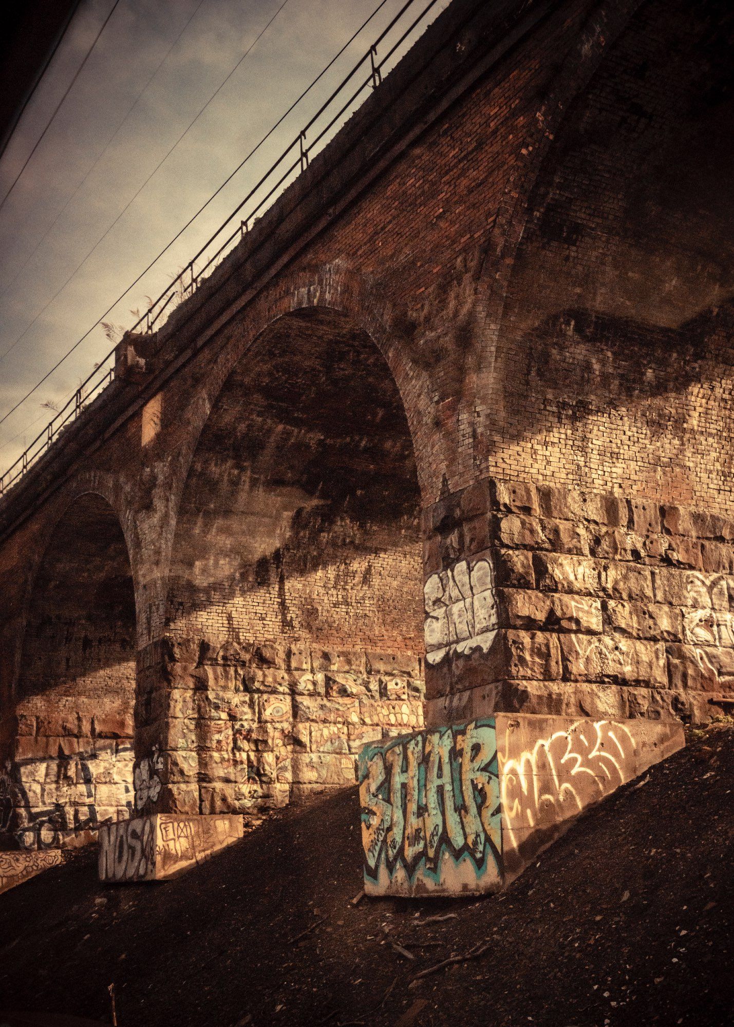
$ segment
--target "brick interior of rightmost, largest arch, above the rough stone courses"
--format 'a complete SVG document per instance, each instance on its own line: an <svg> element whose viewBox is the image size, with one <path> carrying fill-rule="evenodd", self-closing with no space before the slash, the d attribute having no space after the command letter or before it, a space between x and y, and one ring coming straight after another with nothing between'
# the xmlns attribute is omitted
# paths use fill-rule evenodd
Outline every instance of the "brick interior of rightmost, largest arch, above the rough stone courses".
<svg viewBox="0 0 734 1027"><path fill-rule="evenodd" d="M647 0L545 150L498 333L512 477L731 507L733 36L723 0Z"/></svg>

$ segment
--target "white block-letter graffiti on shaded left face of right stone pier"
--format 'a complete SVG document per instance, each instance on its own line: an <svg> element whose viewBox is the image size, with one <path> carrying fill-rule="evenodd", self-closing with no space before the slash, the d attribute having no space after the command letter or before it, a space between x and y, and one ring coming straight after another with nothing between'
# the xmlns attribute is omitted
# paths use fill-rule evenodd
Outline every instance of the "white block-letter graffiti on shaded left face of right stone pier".
<svg viewBox="0 0 734 1027"><path fill-rule="evenodd" d="M462 560L449 570L432 574L424 587L426 659L440 663L448 654L486 652L498 626L491 564Z"/></svg>

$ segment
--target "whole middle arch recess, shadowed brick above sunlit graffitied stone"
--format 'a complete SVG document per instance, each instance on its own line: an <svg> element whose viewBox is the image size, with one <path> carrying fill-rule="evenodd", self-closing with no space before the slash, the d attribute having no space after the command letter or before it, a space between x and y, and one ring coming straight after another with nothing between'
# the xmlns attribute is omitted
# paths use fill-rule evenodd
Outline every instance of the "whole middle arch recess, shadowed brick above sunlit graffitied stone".
<svg viewBox="0 0 734 1027"><path fill-rule="evenodd" d="M366 740L421 722L419 509L405 411L370 336L333 308L277 318L217 396L179 507L175 808L354 782Z"/></svg>

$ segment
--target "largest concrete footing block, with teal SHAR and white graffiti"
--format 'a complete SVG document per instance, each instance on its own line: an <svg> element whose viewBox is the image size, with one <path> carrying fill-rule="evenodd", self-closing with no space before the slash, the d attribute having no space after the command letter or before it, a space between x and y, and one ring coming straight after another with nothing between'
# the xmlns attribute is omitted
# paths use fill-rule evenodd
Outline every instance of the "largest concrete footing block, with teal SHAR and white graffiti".
<svg viewBox="0 0 734 1027"><path fill-rule="evenodd" d="M365 891L498 890L584 809L684 744L677 723L496 714L368 745Z"/></svg>

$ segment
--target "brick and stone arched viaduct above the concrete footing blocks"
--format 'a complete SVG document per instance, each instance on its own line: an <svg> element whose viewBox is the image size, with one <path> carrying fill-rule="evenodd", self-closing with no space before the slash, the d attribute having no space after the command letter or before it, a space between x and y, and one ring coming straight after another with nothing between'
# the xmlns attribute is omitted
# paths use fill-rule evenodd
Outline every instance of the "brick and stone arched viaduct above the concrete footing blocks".
<svg viewBox="0 0 734 1027"><path fill-rule="evenodd" d="M734 17L453 0L0 502L0 819L734 681Z"/></svg>

